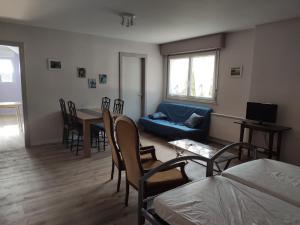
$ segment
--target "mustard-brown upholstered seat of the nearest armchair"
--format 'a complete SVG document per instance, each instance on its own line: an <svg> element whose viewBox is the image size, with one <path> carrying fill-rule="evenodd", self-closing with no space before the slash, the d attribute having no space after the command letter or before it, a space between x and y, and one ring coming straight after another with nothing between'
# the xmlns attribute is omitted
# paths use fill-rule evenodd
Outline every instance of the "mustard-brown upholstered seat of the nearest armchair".
<svg viewBox="0 0 300 225"><path fill-rule="evenodd" d="M156 162L148 162L146 165L149 167L155 167L161 165L162 162L156 160ZM148 167L148 168L149 168ZM182 176L182 173L177 169L170 169L154 174L146 182L147 196L156 195L170 189L176 188L180 185L187 183L188 180ZM145 197L147 197L145 196Z"/></svg>

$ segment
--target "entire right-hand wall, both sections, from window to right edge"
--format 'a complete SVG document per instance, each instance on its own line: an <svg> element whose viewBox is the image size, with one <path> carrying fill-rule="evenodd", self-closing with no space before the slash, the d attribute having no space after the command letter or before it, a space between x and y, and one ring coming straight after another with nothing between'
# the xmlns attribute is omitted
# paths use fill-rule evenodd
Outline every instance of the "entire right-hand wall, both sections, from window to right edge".
<svg viewBox="0 0 300 225"><path fill-rule="evenodd" d="M300 165L300 18L265 24L226 37L220 56L219 91L215 112L245 117L246 102L278 104L278 124L292 127L283 136L281 159ZM242 78L230 78L231 65L243 65ZM212 115L210 136L238 141L235 119ZM254 134L254 144L267 136ZM276 146L276 144L275 144Z"/></svg>

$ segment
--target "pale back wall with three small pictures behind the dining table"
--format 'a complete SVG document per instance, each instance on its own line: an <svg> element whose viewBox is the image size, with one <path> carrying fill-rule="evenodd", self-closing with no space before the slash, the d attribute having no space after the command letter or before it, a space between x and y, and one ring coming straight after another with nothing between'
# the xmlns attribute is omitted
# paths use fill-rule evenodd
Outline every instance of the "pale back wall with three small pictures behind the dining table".
<svg viewBox="0 0 300 225"><path fill-rule="evenodd" d="M99 106L103 96L118 97L120 51L148 55L146 112L161 101L162 58L157 45L7 23L0 23L0 30L0 40L24 43L32 145L61 139L60 97L73 100L77 107ZM48 71L47 58L61 60L63 69ZM77 67L87 68L87 78L98 80L99 73L106 73L108 83L88 89L87 79L76 77Z"/></svg>

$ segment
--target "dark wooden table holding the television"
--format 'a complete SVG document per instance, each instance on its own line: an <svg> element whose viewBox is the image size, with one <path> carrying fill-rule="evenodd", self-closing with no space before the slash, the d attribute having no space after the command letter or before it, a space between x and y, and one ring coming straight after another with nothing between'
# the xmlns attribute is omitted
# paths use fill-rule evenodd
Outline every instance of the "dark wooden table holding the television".
<svg viewBox="0 0 300 225"><path fill-rule="evenodd" d="M240 142L243 142L244 140L244 133L245 129L249 129L249 135L248 135L248 143L251 144L252 142L252 136L253 131L262 131L269 134L269 143L268 147L264 148L266 150L266 153L268 154L268 157L271 159L273 155L276 156L277 160L280 160L280 150L281 150L281 138L282 133L284 131L288 131L291 128L290 127L284 127L284 126L278 126L273 124L264 124L262 122L255 123L249 120L241 120L234 122L236 124L240 124ZM274 136L277 134L277 146L276 151L273 151L273 142L274 142ZM250 152L248 150L248 157L250 156ZM239 159L242 158L242 147L239 147Z"/></svg>

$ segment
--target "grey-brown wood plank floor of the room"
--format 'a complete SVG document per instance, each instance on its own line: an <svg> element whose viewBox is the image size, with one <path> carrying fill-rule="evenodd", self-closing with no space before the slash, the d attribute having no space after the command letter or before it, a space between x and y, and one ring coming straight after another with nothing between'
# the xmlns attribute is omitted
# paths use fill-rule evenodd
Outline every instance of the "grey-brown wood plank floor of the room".
<svg viewBox="0 0 300 225"><path fill-rule="evenodd" d="M165 141L147 134L142 139L156 146L162 161L175 157ZM137 193L131 189L125 207L124 174L119 193L116 179L109 179L109 149L84 159L82 152L75 156L61 144L25 149L18 142L13 148L11 141L7 146L1 140L1 225L136 224ZM189 163L187 171L196 179L205 174L205 168L195 163Z"/></svg>

